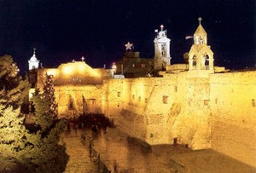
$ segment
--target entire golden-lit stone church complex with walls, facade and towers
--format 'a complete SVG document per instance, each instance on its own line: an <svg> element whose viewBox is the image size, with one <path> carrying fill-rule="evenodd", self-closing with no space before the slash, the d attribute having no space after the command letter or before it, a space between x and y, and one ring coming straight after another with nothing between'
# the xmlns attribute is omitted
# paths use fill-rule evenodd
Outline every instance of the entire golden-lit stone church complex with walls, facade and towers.
<svg viewBox="0 0 256 173"><path fill-rule="evenodd" d="M60 118L103 113L130 136L149 144L212 148L256 166L256 71L230 72L214 66L201 25L187 64L171 63L170 39L160 26L154 58L140 58L127 45L113 69L92 68L82 58L57 68L29 61L32 89L53 75Z"/></svg>

